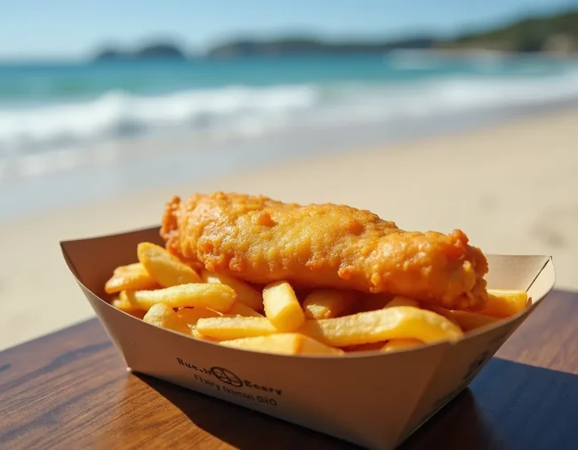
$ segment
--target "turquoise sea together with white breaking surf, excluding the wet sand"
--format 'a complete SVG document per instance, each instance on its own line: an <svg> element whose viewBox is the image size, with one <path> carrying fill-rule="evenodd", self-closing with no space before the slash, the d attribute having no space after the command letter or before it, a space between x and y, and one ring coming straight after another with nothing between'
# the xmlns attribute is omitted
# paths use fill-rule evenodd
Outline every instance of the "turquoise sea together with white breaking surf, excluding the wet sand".
<svg viewBox="0 0 578 450"><path fill-rule="evenodd" d="M432 53L0 64L0 158L120 136L260 136L578 99L578 61Z"/></svg>

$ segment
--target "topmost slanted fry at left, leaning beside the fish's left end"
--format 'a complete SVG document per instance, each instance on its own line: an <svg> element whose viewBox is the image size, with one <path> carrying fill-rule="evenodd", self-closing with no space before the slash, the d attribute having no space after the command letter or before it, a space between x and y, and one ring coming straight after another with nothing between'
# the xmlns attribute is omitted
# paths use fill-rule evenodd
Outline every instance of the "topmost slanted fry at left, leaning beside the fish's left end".
<svg viewBox="0 0 578 450"><path fill-rule="evenodd" d="M141 242L137 247L137 256L150 276L163 287L202 282L195 270L160 245Z"/></svg>

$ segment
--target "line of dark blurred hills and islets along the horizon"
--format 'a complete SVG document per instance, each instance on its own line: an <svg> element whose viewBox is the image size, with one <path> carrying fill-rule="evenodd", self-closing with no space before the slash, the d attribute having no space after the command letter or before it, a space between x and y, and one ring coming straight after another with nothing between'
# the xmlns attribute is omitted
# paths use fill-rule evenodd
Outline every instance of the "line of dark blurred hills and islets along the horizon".
<svg viewBox="0 0 578 450"><path fill-rule="evenodd" d="M371 53L393 50L493 50L500 52L578 52L578 11L528 18L517 22L470 32L451 39L414 36L388 41L327 42L317 38L293 36L269 40L240 39L210 48L206 58L243 58L287 54ZM134 52L107 47L94 60L186 59L176 44L155 43Z"/></svg>

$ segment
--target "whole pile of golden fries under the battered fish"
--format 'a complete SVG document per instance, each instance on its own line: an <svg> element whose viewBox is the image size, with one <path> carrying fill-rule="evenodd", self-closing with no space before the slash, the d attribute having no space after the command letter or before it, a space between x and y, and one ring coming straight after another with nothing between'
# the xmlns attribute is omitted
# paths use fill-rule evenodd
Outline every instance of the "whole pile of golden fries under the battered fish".
<svg viewBox="0 0 578 450"><path fill-rule="evenodd" d="M257 286L197 271L149 242L138 245L137 259L116 268L104 286L115 308L193 338L285 355L391 352L458 340L531 302L524 291L491 290L486 308L472 312L348 290L296 293L286 281Z"/></svg>

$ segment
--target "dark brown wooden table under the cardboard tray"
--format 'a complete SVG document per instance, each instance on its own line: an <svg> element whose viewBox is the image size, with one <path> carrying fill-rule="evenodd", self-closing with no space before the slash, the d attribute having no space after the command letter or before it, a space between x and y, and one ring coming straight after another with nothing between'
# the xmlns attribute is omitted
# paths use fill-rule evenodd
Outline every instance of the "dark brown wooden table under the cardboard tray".
<svg viewBox="0 0 578 450"><path fill-rule="evenodd" d="M555 291L401 447L578 449L578 293ZM356 448L129 374L96 319L0 353L0 448Z"/></svg>

